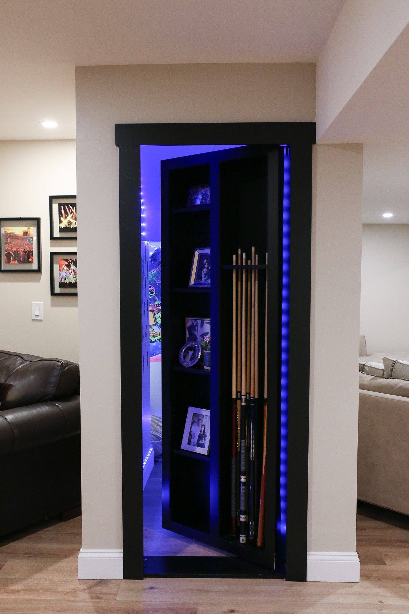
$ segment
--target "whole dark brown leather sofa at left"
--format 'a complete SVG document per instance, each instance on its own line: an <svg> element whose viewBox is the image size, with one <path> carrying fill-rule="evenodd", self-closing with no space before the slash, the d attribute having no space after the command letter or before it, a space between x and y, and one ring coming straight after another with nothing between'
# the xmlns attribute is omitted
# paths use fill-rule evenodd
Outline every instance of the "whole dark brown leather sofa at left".
<svg viewBox="0 0 409 614"><path fill-rule="evenodd" d="M81 502L75 363L0 351L0 535Z"/></svg>

